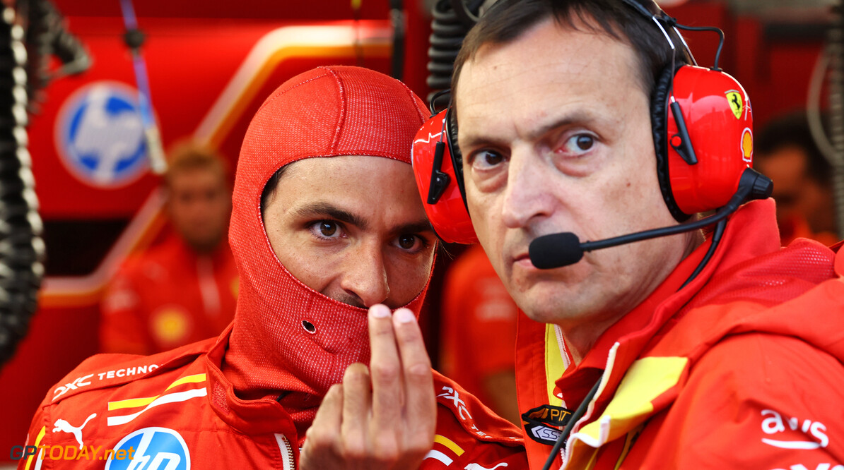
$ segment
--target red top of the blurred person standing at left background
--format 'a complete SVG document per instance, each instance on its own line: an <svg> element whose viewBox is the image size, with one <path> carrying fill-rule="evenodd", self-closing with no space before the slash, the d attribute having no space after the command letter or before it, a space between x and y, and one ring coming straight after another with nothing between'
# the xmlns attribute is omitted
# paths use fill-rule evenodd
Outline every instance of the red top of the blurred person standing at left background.
<svg viewBox="0 0 844 470"><path fill-rule="evenodd" d="M217 336L235 316L227 243L197 254L175 233L127 260L101 303L100 351L155 354Z"/></svg>

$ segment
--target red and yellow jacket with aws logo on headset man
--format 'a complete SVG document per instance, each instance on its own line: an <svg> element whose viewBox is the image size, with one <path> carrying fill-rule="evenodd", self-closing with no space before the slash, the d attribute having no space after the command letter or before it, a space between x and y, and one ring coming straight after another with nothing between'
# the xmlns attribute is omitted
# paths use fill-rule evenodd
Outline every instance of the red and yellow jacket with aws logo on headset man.
<svg viewBox="0 0 844 470"><path fill-rule="evenodd" d="M600 380L553 468L844 470L844 254L806 239L780 248L772 200L751 202L680 289L709 244L577 366L553 326L520 318L531 468L565 421L549 416Z"/></svg>

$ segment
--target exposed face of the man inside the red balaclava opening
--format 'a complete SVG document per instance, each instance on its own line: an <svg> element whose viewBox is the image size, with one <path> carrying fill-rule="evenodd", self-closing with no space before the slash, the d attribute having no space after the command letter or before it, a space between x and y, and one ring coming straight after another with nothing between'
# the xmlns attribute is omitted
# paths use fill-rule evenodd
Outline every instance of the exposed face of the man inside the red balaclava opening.
<svg viewBox="0 0 844 470"><path fill-rule="evenodd" d="M356 307L402 307L430 277L436 236L408 163L306 158L264 208L273 251L311 289Z"/></svg>

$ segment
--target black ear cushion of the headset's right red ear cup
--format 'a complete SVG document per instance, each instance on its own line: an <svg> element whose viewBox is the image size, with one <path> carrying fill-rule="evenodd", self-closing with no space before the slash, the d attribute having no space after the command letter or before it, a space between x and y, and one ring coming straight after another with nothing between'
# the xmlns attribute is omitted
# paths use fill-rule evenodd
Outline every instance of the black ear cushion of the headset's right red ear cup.
<svg viewBox="0 0 844 470"><path fill-rule="evenodd" d="M680 66L682 67L682 66ZM671 189L671 176L668 172L668 93L671 93L671 86L674 82L674 74L680 67L663 68L659 74L657 83L653 87L651 95L651 129L653 132L653 148L657 154L657 179L659 190L663 192L668 211L674 216L677 222L684 222L689 219L690 214L681 211L674 200L674 192Z"/></svg>

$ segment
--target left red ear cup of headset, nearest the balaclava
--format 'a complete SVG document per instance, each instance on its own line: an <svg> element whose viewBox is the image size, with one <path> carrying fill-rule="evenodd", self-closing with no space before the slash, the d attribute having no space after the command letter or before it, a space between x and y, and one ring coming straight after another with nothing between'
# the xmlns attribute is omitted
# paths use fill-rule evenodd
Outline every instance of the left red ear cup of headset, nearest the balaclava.
<svg viewBox="0 0 844 470"><path fill-rule="evenodd" d="M454 126L449 121L447 110L441 111L416 133L411 154L416 186L437 236L446 243L477 243L466 209L462 158L450 138L457 131L450 132ZM446 184L435 188L436 181Z"/></svg>

